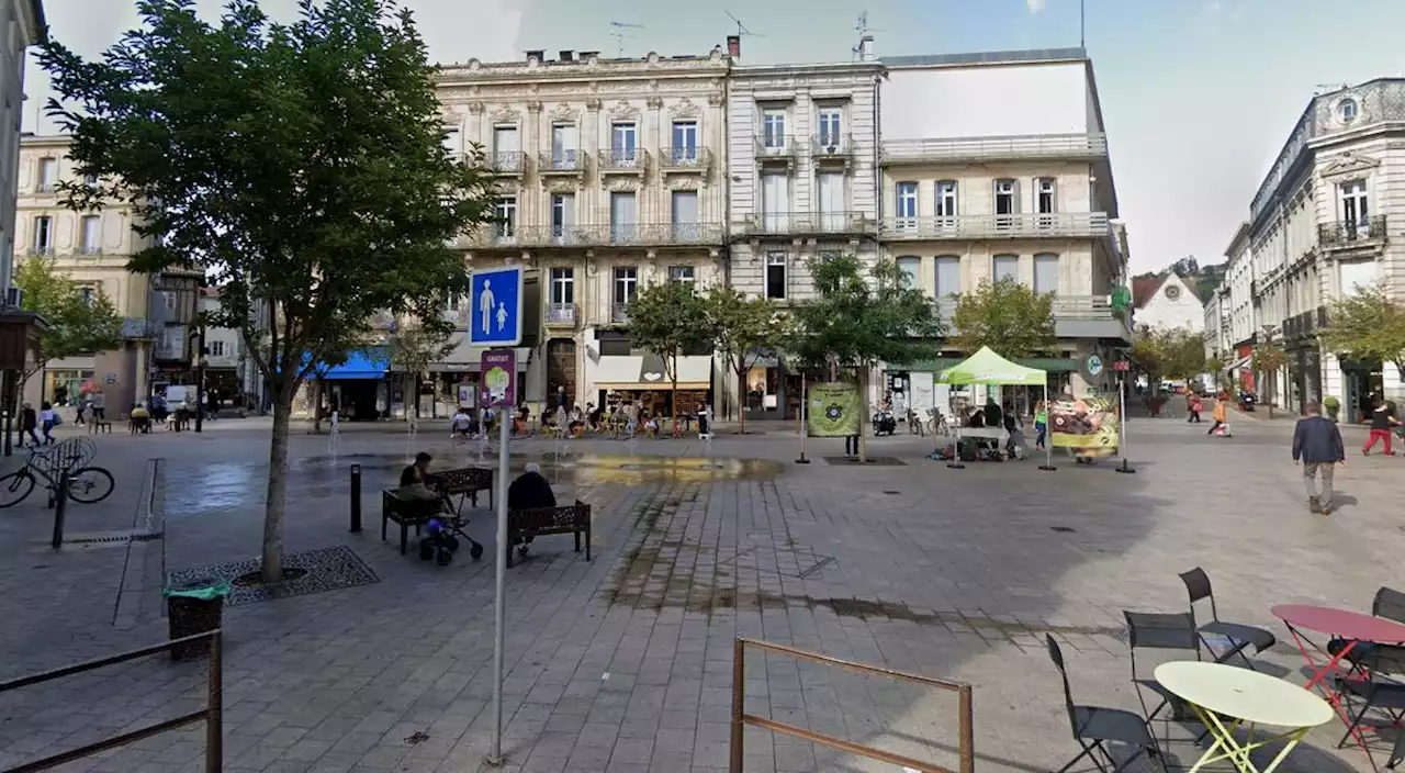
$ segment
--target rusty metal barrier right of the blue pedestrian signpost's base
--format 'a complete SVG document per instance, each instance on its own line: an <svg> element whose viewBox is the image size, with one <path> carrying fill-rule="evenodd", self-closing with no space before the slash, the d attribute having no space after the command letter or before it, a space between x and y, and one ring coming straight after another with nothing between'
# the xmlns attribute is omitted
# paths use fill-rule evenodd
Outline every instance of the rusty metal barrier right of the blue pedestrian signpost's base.
<svg viewBox="0 0 1405 773"><path fill-rule="evenodd" d="M836 666L842 669L856 670L858 673L870 673L878 676L887 676L889 679L902 679L906 682L917 682L920 684L927 684L929 687L939 687L943 690L950 690L958 694L960 706L960 734L961 739L957 743L957 753L961 756L961 769L950 770L930 762L922 762L912 758L905 758L902 755L895 755L892 752L884 752L881 749L874 749L871 746L863 746L849 741L835 738L832 735L821 735L818 732L799 728L787 722L777 722L774 720L767 720L764 717L756 717L746 713L745 701L745 686L746 686L746 648L754 647L757 649L766 649L770 652L780 652L783 655L790 655L801 661L811 661L816 663L825 663L829 666ZM913 770L922 770L923 773L974 773L975 772L975 739L972 735L971 722L971 686L961 682L943 682L941 679L930 679L926 676L917 676L915 673L905 673L901 670L884 669L877 666L865 666L863 663L854 663L850 661L842 661L839 658L830 658L828 655L821 655L818 652L809 652L805 649L795 649L794 647L785 647L781 644L770 644L764 641L756 641L749 638L738 638L732 645L732 765L731 773L742 773L742 765L745 762L745 738L746 725L754 725L771 732L783 732L785 735L794 735L795 738L802 738L812 743L822 743L825 746L832 746L851 755L864 756L868 759L877 759L888 762L892 765L901 765L903 767L910 767Z"/></svg>

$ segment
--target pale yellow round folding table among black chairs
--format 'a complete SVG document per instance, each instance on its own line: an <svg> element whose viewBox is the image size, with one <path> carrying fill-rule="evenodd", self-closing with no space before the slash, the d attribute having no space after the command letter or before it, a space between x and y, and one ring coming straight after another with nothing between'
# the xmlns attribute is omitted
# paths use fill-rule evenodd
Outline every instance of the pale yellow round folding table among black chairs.
<svg viewBox="0 0 1405 773"><path fill-rule="evenodd" d="M1190 773L1220 760L1232 762L1241 773L1272 773L1309 729L1332 721L1332 707L1325 700L1267 673L1224 663L1176 661L1156 666L1154 675L1162 687L1190 706L1215 739ZM1249 725L1248 741L1241 743L1234 734L1245 724ZM1288 729L1260 735L1259 725ZM1279 741L1287 743L1273 762L1262 770L1255 767L1250 755Z"/></svg>

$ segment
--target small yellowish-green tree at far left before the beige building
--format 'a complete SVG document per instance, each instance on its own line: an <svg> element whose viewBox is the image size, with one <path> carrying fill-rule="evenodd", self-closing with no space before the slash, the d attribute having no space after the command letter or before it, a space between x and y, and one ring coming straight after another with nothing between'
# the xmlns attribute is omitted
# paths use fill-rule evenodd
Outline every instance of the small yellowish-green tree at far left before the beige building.
<svg viewBox="0 0 1405 773"><path fill-rule="evenodd" d="M51 360L122 346L122 316L112 301L101 290L84 294L52 260L27 259L14 274L14 285L20 288L20 306L49 323L39 336L34 365L20 377L21 391Z"/></svg>

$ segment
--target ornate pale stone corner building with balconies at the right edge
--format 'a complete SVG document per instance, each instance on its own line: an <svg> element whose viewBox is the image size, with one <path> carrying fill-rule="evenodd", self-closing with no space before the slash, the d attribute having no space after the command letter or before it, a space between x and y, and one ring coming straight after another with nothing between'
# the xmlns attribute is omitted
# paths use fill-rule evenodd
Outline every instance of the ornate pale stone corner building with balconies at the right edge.
<svg viewBox="0 0 1405 773"><path fill-rule="evenodd" d="M1336 396L1343 416L1373 396L1405 398L1380 361L1324 351L1331 302L1375 282L1405 299L1405 79L1343 86L1308 101L1249 207L1257 336L1288 354L1260 398L1301 410ZM1401 188L1401 190L1397 190Z"/></svg>

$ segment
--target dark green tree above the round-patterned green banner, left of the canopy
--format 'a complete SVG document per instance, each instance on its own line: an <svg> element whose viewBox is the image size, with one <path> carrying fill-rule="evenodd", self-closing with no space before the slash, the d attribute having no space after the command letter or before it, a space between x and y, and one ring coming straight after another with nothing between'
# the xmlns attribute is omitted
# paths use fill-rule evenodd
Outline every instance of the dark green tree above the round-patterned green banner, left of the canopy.
<svg viewBox="0 0 1405 773"><path fill-rule="evenodd" d="M795 332L790 349L811 367L858 371L858 458L867 461L868 371L881 363L936 357L946 330L936 302L912 287L892 260L865 270L856 256L823 256L809 261L809 274L815 297L791 311Z"/></svg>

